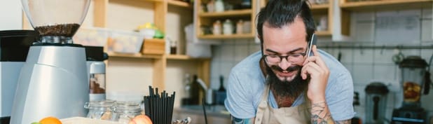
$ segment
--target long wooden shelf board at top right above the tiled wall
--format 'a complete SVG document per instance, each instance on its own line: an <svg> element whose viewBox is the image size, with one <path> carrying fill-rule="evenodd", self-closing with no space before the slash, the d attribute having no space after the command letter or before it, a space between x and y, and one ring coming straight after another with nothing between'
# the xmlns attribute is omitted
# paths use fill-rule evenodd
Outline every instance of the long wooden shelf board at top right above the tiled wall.
<svg viewBox="0 0 433 124"><path fill-rule="evenodd" d="M432 7L433 0L381 0L344 2L340 7L349 11L385 11Z"/></svg>

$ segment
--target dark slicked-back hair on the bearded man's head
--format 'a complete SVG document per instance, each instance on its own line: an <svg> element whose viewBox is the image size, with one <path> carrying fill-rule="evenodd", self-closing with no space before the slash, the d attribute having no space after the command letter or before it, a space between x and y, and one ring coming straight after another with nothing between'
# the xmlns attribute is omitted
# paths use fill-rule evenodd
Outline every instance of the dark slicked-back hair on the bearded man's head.
<svg viewBox="0 0 433 124"><path fill-rule="evenodd" d="M268 22L271 27L282 27L293 23L296 16L302 18L307 33L307 42L315 32L315 22L306 0L270 0L257 14L257 32L261 48L263 48L263 24ZM262 51L263 53L263 51Z"/></svg>

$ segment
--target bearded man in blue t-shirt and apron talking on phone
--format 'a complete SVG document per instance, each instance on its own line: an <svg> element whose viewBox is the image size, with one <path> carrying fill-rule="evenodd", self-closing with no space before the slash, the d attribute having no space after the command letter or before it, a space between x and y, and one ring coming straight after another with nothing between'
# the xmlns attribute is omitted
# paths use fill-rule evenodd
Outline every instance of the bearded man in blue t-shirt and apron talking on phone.
<svg viewBox="0 0 433 124"><path fill-rule="evenodd" d="M308 42L315 32L305 0L270 0L257 16L261 52L231 70L226 109L233 123L350 123L353 83L334 57Z"/></svg>

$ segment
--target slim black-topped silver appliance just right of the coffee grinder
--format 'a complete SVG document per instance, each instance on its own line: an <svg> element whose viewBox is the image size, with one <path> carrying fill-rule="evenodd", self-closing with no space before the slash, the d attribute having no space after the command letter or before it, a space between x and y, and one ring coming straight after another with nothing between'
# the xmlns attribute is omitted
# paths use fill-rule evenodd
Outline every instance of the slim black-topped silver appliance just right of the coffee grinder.
<svg viewBox="0 0 433 124"><path fill-rule="evenodd" d="M84 46L87 59L89 98L90 101L104 101L106 99L105 63L108 54L104 53L104 47Z"/></svg>

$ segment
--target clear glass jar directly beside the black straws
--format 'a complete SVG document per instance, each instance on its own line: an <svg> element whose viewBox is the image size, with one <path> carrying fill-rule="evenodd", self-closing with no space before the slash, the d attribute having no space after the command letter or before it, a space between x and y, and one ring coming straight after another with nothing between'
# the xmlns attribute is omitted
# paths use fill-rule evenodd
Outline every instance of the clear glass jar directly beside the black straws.
<svg viewBox="0 0 433 124"><path fill-rule="evenodd" d="M142 114L142 108L136 102L117 102L114 106L113 120L128 124L132 118Z"/></svg>

